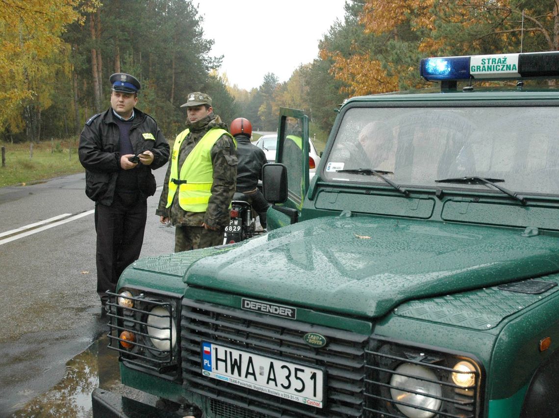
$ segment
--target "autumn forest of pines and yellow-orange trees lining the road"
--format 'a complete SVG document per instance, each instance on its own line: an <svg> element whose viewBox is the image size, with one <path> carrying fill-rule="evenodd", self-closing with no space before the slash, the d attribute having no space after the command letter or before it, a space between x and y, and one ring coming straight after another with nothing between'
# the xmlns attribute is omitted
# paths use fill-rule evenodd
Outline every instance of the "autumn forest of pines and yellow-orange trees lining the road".
<svg viewBox="0 0 559 418"><path fill-rule="evenodd" d="M53 140L67 139L71 157L84 122L110 105L109 76L127 72L169 140L183 129L186 95L204 91L226 124L243 116L254 130L275 131L280 106L302 109L321 149L344 98L427 86L420 58L559 49L559 0L347 0L318 58L284 83L270 69L247 91L210 55L196 4L0 0L0 143L46 142L53 153L66 149Z"/></svg>

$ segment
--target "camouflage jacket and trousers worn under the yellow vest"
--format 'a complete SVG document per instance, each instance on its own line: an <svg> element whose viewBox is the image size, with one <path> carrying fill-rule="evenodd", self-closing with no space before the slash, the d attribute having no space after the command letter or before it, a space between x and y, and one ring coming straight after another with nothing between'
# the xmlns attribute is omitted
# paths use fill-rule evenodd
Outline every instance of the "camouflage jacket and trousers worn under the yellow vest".
<svg viewBox="0 0 559 418"><path fill-rule="evenodd" d="M219 116L210 113L194 124L187 123L190 133L181 144L178 156L178 168L182 167L188 154L198 141L213 127L227 129L222 124ZM229 225L229 204L233 199L237 175L237 155L233 139L222 135L211 149L212 165L214 167L214 182L211 186L211 197L206 212L186 212L178 203L179 193L174 194L173 202L167 206L169 194L169 176L171 165L169 163L163 191L159 199L156 215L168 217L171 224L176 226L175 252L197 248L206 248L223 243L225 226ZM202 222L209 226L219 227L216 231L207 230Z"/></svg>

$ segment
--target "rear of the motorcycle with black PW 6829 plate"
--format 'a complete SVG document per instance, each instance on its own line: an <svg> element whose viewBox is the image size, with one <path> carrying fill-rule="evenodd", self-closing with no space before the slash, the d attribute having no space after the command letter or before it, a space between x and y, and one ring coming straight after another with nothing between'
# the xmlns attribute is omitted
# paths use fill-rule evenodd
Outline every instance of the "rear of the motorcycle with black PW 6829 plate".
<svg viewBox="0 0 559 418"><path fill-rule="evenodd" d="M234 244L255 235L263 230L256 228L256 211L250 204L250 197L244 193L235 193L231 202L229 225L225 227L224 244Z"/></svg>

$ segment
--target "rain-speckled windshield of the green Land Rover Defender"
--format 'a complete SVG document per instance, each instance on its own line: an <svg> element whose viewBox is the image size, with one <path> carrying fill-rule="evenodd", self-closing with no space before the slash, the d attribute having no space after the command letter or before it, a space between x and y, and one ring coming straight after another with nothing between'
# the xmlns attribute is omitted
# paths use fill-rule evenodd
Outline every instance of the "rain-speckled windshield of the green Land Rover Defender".
<svg viewBox="0 0 559 418"><path fill-rule="evenodd" d="M324 165L328 181L494 189L462 177L503 179L515 192L559 194L556 107L352 108Z"/></svg>

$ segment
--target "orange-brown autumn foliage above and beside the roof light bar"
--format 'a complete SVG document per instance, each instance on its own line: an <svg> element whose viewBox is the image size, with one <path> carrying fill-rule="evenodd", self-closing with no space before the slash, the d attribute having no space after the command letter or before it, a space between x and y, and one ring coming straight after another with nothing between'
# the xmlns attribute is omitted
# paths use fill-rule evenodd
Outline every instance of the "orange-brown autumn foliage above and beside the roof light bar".
<svg viewBox="0 0 559 418"><path fill-rule="evenodd" d="M511 0L455 0L452 2L443 0L364 0L363 9L359 13L359 23L363 25L364 34L378 37L378 39L390 39L399 41L399 30L404 23L412 31L419 34L432 34L432 36L421 35L418 37L417 48L425 56L455 55L459 49L481 50L485 35L502 37L504 44L509 39L519 39L521 18L525 16L527 34L541 33L546 39L549 50L559 49L559 12L556 8L542 15L529 7L536 7L529 2L524 4L528 8L523 10L514 9ZM553 5L551 5L553 6ZM553 7L556 7L553 6ZM434 12L435 11L435 12ZM484 32L477 37L465 37L458 41L452 35L437 34L437 23L442 25L453 24L462 30L475 26L490 27L492 32ZM448 26L446 26L448 28ZM554 27L555 33L548 32L549 27ZM383 35L381 37L381 35ZM438 35L438 36L437 36ZM461 45L459 42L463 42ZM467 44L465 43L467 42ZM359 48L357 46L359 44ZM370 94L395 91L398 88L398 78L402 77L407 86L416 84L421 86L421 80L415 83L410 74L416 72L415 68L396 68L394 63L386 63L386 58L376 59L375 44L367 48L366 42L354 42L344 55L339 51L331 51L328 46L320 50L320 58L333 60L330 74L345 83L342 92L348 94ZM403 45L403 42L402 42ZM382 49L382 46L380 47ZM396 75L389 75L396 74Z"/></svg>

